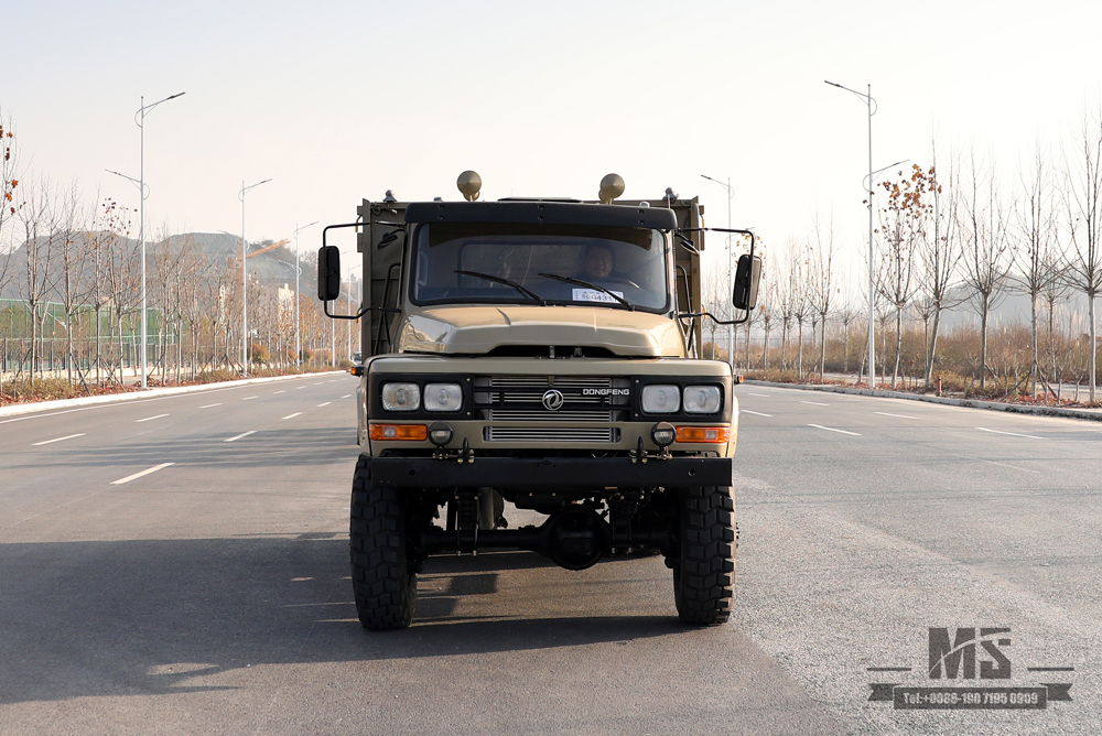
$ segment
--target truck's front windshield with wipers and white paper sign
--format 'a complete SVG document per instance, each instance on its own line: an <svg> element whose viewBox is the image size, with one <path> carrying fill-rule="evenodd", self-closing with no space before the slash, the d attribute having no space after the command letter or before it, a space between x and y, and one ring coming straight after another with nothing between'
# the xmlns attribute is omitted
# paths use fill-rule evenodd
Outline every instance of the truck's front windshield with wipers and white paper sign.
<svg viewBox="0 0 1102 736"><path fill-rule="evenodd" d="M666 238L580 225L434 223L419 230L418 304L584 304L665 311ZM581 283L580 283L581 282Z"/></svg>

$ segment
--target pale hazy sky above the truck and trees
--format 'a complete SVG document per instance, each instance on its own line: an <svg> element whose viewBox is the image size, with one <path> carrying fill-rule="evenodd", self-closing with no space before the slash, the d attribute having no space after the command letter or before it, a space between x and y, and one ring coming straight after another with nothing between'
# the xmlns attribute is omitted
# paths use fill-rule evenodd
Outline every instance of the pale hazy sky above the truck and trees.
<svg viewBox="0 0 1102 736"><path fill-rule="evenodd" d="M1042 9L1044 8L1044 9ZM1013 185L1102 87L1102 3L318 1L4 2L0 113L31 178L137 208L141 105L151 231L293 237L363 198L699 196L766 247L833 221L867 248L873 164L974 147ZM909 165L906 164L906 165ZM892 170L887 174L892 174ZM24 180L25 181L25 180ZM302 249L321 228L302 230ZM347 231L336 242L348 250ZM705 252L722 262L719 237Z"/></svg>

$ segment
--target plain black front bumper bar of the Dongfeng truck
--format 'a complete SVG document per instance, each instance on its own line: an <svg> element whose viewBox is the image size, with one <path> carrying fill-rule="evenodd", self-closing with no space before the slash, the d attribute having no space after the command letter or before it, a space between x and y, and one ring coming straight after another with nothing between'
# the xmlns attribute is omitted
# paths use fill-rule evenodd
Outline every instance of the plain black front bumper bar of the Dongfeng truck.
<svg viewBox="0 0 1102 736"><path fill-rule="evenodd" d="M684 488L731 486L730 457L371 457L371 483L382 488Z"/></svg>

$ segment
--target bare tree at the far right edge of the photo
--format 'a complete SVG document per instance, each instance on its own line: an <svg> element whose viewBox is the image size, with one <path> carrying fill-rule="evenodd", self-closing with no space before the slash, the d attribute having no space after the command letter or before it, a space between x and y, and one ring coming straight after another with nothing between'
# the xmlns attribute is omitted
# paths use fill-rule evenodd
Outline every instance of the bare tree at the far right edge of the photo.
<svg viewBox="0 0 1102 736"><path fill-rule="evenodd" d="M1102 291L1102 108L1084 113L1068 156L1068 283L1087 297L1090 401L1096 401L1098 320L1094 299Z"/></svg>

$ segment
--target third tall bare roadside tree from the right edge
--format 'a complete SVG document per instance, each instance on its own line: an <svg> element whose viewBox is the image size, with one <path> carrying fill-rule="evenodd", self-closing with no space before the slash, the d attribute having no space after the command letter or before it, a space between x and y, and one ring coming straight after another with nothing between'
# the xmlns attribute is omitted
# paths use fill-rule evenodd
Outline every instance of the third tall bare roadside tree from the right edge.
<svg viewBox="0 0 1102 736"><path fill-rule="evenodd" d="M963 246L963 281L980 316L980 390L986 387L987 326L1013 263L1006 238L1006 206L998 196L994 164L981 171L975 150L970 150L969 181L965 184L958 224Z"/></svg>

